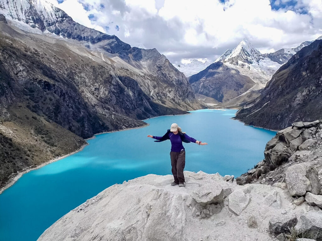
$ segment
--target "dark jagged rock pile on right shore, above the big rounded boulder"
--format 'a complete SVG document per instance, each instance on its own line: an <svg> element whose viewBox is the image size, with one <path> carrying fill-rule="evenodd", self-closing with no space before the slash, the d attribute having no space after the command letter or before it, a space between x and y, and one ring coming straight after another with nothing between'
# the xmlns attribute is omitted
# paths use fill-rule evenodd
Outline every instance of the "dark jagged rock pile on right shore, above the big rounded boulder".
<svg viewBox="0 0 322 241"><path fill-rule="evenodd" d="M273 184L285 181L290 166L299 163L315 165L317 182L322 181L322 122L295 122L280 130L266 145L265 159L237 178L238 184ZM320 184L318 184L320 186Z"/></svg>

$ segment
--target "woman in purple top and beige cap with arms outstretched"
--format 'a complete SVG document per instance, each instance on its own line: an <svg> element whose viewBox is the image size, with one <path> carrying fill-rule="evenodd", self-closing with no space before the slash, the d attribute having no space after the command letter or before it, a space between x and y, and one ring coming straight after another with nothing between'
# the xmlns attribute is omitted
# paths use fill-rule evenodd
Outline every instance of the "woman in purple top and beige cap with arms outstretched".
<svg viewBox="0 0 322 241"><path fill-rule="evenodd" d="M198 145L208 145L208 143L197 141L196 139L189 137L185 132L181 131L181 128L178 124L173 123L171 128L166 132L163 137L159 136L151 136L147 135L147 137L151 137L157 139L156 142L161 142L165 140L171 141L171 166L172 166L172 174L175 179L172 186L179 185L179 187L185 186L185 176L183 174L183 169L185 168L185 147L183 147L182 142L194 142Z"/></svg>

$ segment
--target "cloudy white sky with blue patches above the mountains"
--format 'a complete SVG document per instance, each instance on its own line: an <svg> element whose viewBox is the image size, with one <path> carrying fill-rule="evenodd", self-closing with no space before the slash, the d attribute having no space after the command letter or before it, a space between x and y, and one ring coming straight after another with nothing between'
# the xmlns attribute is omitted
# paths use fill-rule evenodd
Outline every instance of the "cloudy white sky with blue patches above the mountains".
<svg viewBox="0 0 322 241"><path fill-rule="evenodd" d="M322 0L51 0L74 21L172 63L213 61L243 38L262 53L322 35Z"/></svg>

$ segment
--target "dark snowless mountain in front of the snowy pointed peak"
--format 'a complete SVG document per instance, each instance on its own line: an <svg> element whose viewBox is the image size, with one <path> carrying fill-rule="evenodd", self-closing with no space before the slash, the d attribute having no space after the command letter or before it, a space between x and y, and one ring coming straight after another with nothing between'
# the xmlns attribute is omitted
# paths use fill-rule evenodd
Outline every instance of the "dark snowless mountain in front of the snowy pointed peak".
<svg viewBox="0 0 322 241"><path fill-rule="evenodd" d="M226 102L248 91L255 83L237 69L215 62L203 71L189 77L194 92Z"/></svg>

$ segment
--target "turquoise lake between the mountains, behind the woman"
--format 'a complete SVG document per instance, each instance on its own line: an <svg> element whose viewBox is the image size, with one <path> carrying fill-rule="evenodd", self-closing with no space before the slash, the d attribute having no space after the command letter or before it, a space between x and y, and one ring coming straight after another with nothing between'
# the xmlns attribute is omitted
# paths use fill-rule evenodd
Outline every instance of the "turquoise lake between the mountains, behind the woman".
<svg viewBox="0 0 322 241"><path fill-rule="evenodd" d="M235 177L264 158L274 131L230 119L236 110L198 110L146 120L144 128L101 134L82 151L24 174L0 194L0 240L35 241L52 223L107 187L146 174L171 174L170 141L154 142L178 123L207 146L184 143L185 170Z"/></svg>

